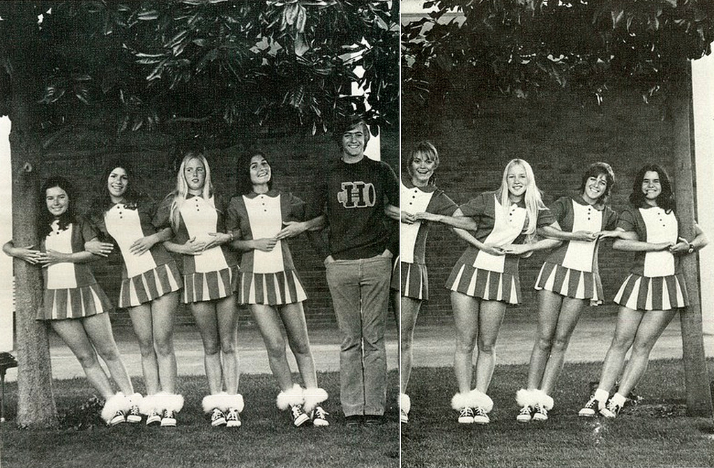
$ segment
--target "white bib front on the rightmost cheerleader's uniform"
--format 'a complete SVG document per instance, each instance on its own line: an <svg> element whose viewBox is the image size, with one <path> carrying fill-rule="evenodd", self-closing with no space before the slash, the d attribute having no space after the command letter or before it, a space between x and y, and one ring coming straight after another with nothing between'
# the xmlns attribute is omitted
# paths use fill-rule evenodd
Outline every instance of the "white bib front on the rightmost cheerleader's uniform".
<svg viewBox="0 0 714 468"><path fill-rule="evenodd" d="M665 213L659 206L640 208L640 214L647 227L645 242L677 242L678 224L674 211ZM668 249L645 254L645 277L667 277L674 274L674 255Z"/></svg>

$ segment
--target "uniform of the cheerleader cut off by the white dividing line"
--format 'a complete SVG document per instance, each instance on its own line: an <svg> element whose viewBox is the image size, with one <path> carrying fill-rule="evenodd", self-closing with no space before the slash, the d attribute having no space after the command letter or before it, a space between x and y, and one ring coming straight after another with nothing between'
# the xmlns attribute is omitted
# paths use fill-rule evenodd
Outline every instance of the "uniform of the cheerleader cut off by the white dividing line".
<svg viewBox="0 0 714 468"><path fill-rule="evenodd" d="M402 177L399 184L402 207L411 214L426 211L451 216L458 208L441 189L427 185L418 187ZM426 237L430 223L416 221L402 224L398 262L401 265L401 295L413 299L429 299L429 282L426 274ZM395 262L395 265L397 263ZM396 272L398 273L398 271ZM396 274L393 274L393 278Z"/></svg>

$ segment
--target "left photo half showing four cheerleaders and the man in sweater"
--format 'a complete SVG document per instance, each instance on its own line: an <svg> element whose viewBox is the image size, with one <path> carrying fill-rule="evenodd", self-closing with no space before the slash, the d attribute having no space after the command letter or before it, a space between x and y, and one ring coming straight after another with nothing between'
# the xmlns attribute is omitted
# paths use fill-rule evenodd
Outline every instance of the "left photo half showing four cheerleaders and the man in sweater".
<svg viewBox="0 0 714 468"><path fill-rule="evenodd" d="M0 464L399 466L398 41L388 0L0 3Z"/></svg>

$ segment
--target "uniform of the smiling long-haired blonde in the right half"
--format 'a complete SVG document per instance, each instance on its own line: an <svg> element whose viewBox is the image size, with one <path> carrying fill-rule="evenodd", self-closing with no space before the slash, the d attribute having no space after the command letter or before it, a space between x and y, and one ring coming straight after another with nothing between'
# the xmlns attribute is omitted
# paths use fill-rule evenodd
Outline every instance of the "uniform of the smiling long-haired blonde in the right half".
<svg viewBox="0 0 714 468"><path fill-rule="evenodd" d="M522 244L525 239L526 204L501 206L496 191L487 191L460 206L465 216L476 219L475 237L483 243L505 247ZM555 219L548 209L538 210L536 226L548 226ZM531 221L532 222L532 221ZM485 301L508 304L521 302L517 255L491 255L469 244L446 281L446 288Z"/></svg>

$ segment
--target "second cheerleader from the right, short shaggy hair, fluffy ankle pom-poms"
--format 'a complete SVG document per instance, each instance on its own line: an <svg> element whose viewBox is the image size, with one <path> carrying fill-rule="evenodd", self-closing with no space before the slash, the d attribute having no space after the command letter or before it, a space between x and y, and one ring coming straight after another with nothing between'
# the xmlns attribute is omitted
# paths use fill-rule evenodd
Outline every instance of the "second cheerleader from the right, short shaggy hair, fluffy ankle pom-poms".
<svg viewBox="0 0 714 468"><path fill-rule="evenodd" d="M620 237L614 231L615 211L606 205L615 183L609 164L591 164L583 174L580 189L550 206L562 230L548 226L544 234L566 241L545 260L535 282L538 292L538 335L528 367L528 386L516 393L521 406L518 422L545 421L553 408L550 391L563 369L570 335L586 302L603 303L598 274L598 241Z"/></svg>

